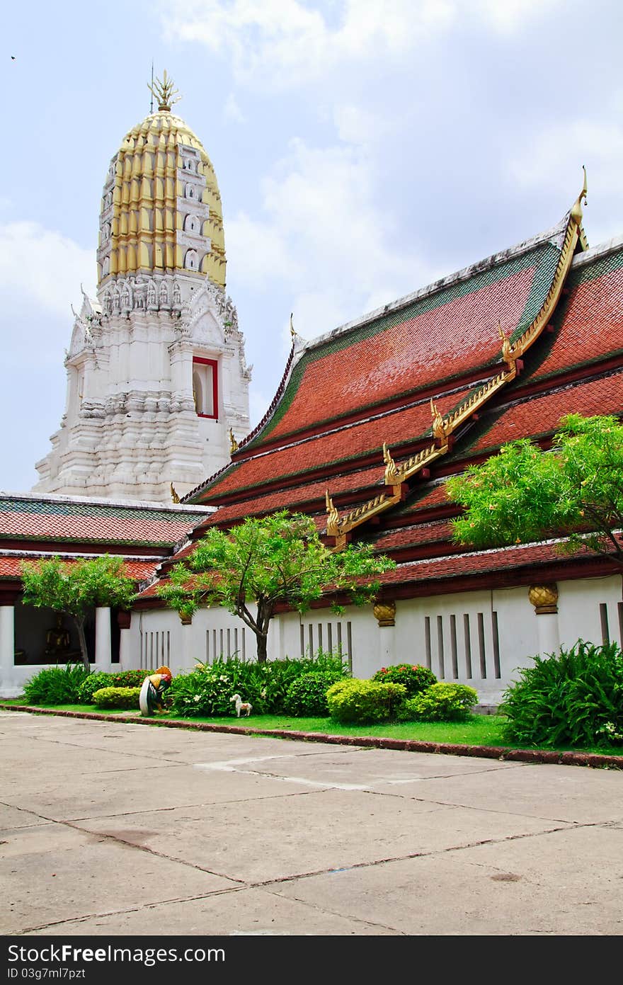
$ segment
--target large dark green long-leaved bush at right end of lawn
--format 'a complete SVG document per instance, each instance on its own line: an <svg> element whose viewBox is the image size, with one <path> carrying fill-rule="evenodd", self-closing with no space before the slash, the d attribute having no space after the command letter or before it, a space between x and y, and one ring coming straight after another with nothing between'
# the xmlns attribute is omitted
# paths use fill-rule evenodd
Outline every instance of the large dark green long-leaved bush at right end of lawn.
<svg viewBox="0 0 623 985"><path fill-rule="evenodd" d="M532 657L534 666L504 694L509 740L530 746L611 745L623 734L623 653L580 639Z"/></svg>

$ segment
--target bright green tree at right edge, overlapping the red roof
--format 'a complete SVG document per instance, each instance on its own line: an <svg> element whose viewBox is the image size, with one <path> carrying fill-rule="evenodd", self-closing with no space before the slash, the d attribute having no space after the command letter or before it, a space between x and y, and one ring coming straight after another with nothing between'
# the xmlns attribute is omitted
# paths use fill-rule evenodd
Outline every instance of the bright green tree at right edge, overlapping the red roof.
<svg viewBox="0 0 623 985"><path fill-rule="evenodd" d="M455 540L476 547L563 536L562 551L583 548L623 565L623 426L614 417L562 418L551 450L530 439L448 481L466 510Z"/></svg>

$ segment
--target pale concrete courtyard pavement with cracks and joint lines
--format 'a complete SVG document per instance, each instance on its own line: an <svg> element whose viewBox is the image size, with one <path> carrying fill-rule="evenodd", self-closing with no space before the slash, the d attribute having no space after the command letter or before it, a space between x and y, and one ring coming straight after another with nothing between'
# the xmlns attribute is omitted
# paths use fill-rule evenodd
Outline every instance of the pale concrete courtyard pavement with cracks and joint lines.
<svg viewBox="0 0 623 985"><path fill-rule="evenodd" d="M623 771L0 711L3 935L619 935Z"/></svg>

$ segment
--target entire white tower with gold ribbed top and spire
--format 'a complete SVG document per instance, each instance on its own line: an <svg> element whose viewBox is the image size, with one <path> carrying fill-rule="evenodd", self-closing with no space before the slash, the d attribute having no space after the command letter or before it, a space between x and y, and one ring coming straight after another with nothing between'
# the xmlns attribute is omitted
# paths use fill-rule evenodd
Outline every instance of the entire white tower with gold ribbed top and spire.
<svg viewBox="0 0 623 985"><path fill-rule="evenodd" d="M37 493L169 501L229 461L249 430L251 367L225 296L222 213L201 142L171 112L124 137L99 215L97 297L83 292L67 401Z"/></svg>

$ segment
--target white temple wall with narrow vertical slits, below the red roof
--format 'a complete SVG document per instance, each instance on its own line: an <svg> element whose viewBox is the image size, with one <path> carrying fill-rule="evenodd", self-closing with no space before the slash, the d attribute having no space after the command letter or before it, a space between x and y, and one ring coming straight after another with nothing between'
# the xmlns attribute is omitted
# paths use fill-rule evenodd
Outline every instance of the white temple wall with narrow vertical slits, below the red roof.
<svg viewBox="0 0 623 985"><path fill-rule="evenodd" d="M439 680L476 689L479 703L497 704L517 679L518 668L530 666L538 652L539 620L557 621L565 647L579 638L623 646L621 580L559 582L558 614L536 615L526 587L400 599L393 626L380 626L371 606L346 606L341 616L329 608L304 616L286 613L271 623L269 659L295 659L319 648L335 652L341 645L354 677L369 678L390 663L420 663ZM40 669L12 666L10 617L4 613L0 654L0 694L5 696ZM136 612L123 633L118 665L123 670L155 670L164 663L178 674L220 655L256 659L252 630L220 608L199 610L189 625L170 609Z"/></svg>

